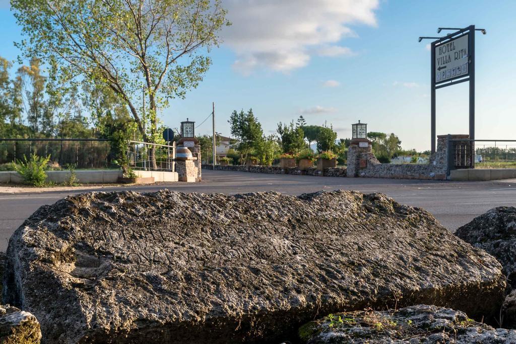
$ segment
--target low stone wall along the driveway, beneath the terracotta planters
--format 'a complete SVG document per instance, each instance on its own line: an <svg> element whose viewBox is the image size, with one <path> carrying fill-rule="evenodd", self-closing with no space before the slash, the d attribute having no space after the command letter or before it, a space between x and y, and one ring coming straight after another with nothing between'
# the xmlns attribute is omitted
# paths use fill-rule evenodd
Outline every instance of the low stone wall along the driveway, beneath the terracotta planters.
<svg viewBox="0 0 516 344"><path fill-rule="evenodd" d="M203 164L202 168L213 169L212 164ZM317 170L316 167L309 167L305 170L300 170L297 167L281 168L280 166L247 166L247 165L216 165L216 170L220 171L238 171L238 172L252 172L252 173L268 173L268 174L283 174L283 175L302 175L302 176L324 176L324 177L346 177L346 167L330 167L323 171Z"/></svg>

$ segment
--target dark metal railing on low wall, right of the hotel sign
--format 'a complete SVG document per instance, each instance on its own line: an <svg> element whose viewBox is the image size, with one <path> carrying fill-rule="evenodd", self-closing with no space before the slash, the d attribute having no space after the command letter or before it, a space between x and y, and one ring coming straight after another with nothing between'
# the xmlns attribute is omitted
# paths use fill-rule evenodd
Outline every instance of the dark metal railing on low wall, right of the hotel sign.
<svg viewBox="0 0 516 344"><path fill-rule="evenodd" d="M516 140L448 140L448 166L516 168Z"/></svg>

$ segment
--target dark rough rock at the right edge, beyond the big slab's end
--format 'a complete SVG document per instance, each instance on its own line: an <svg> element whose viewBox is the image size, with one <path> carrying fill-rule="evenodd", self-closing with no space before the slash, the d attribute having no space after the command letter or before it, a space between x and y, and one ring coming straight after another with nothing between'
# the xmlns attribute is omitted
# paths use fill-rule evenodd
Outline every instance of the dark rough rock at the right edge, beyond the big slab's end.
<svg viewBox="0 0 516 344"><path fill-rule="evenodd" d="M510 293L502 307L501 321L503 326L516 328L516 208L491 209L460 227L455 234L465 242L486 250L502 264Z"/></svg>

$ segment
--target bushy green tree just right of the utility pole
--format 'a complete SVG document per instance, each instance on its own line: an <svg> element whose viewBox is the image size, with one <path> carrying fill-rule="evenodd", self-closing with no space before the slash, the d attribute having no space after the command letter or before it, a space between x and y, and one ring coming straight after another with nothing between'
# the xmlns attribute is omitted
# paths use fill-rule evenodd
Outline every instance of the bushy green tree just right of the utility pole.
<svg viewBox="0 0 516 344"><path fill-rule="evenodd" d="M244 110L233 111L228 123L231 125L231 135L238 141L235 146L240 153L240 161L245 162L249 153L263 140L262 125L252 109L247 113Z"/></svg>

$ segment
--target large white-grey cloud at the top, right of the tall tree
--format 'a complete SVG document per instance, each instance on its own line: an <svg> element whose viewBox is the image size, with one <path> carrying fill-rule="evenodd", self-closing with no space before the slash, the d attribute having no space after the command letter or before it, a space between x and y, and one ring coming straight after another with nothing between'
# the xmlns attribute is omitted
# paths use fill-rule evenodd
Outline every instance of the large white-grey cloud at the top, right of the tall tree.
<svg viewBox="0 0 516 344"><path fill-rule="evenodd" d="M354 24L376 25L379 0L224 0L232 25L222 32L236 53L234 67L249 74L256 68L288 73L312 55L349 56L338 43L356 37Z"/></svg>

